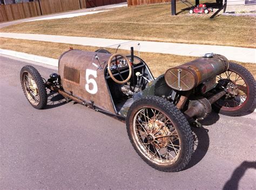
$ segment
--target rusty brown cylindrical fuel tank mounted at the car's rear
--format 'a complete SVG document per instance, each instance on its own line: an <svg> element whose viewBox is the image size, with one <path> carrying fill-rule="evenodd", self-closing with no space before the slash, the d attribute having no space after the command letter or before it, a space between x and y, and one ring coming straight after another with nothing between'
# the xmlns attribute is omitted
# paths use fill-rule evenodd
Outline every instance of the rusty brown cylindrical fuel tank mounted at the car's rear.
<svg viewBox="0 0 256 190"><path fill-rule="evenodd" d="M227 71L229 62L218 54L207 54L203 58L170 68L165 73L166 84L176 90L187 91Z"/></svg>

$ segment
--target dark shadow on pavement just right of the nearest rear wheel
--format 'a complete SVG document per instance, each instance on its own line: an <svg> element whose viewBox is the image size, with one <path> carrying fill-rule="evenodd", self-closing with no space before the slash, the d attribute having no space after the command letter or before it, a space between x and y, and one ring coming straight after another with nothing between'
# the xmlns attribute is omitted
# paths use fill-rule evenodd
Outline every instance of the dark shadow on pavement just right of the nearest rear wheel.
<svg viewBox="0 0 256 190"><path fill-rule="evenodd" d="M205 118L203 121L200 122L203 125L201 128L195 128L191 126L191 130L194 138L194 153L190 160L190 163L188 163L185 170L199 163L199 161L203 159L204 156L206 155L209 148L210 139L208 135L209 130L204 128L204 125L205 126L212 125L216 123L219 120L219 118L220 118L219 114L215 112L211 112L207 116L207 118Z"/></svg>

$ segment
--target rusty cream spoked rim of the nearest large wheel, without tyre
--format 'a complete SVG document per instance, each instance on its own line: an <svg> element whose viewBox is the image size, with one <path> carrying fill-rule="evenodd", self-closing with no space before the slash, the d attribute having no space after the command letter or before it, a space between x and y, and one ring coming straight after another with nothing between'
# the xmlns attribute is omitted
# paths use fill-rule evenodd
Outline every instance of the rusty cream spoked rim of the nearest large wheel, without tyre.
<svg viewBox="0 0 256 190"><path fill-rule="evenodd" d="M138 150L154 164L170 166L180 157L179 131L164 112L149 107L133 117L132 138Z"/></svg>

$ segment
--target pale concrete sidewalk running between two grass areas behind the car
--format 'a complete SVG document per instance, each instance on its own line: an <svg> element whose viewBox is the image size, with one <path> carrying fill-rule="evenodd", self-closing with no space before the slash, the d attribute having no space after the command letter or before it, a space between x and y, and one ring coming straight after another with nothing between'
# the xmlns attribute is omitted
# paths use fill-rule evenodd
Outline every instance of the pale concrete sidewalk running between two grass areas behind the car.
<svg viewBox="0 0 256 190"><path fill-rule="evenodd" d="M200 57L205 53L217 53L224 55L225 57L227 57L227 59L233 61L251 63L256 62L255 48L3 32L0 32L0 37L112 48L116 48L118 44L120 44L121 46L119 48L123 50L130 50L131 44L139 44L139 46L136 48L139 49L139 51L141 52L165 53L195 57Z"/></svg>

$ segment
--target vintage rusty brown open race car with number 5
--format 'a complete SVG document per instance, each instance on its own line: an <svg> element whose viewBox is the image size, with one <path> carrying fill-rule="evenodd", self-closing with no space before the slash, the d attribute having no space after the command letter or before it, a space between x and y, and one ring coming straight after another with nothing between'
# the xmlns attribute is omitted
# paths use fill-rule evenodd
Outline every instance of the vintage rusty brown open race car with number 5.
<svg viewBox="0 0 256 190"><path fill-rule="evenodd" d="M21 69L30 104L43 109L46 89L126 122L136 152L160 171L183 170L193 153L191 125L200 127L212 108L229 116L255 108L255 80L241 65L208 53L167 69L154 78L139 57L100 49L69 50L59 58L58 74L44 80L37 69Z"/></svg>

